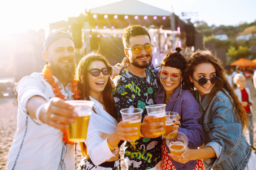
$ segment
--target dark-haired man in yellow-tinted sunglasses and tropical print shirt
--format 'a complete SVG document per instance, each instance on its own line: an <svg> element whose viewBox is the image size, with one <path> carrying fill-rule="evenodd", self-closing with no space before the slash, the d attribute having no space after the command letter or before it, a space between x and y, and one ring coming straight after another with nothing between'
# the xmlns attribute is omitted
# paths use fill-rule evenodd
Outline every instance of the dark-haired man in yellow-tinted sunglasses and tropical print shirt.
<svg viewBox="0 0 256 170"><path fill-rule="evenodd" d="M124 159L127 169L161 168L161 137L152 131L162 131L161 123L149 123L152 116L147 115L145 106L155 104L157 90L156 75L152 62L153 45L148 31L140 25L130 26L122 36L124 52L129 64L114 79L116 90L114 99L117 104L118 120L122 121L120 110L141 108L143 110L141 138L132 143L125 142ZM147 115L147 116L146 116ZM146 126L144 125L146 123ZM150 127L161 127L152 129Z"/></svg>

